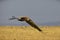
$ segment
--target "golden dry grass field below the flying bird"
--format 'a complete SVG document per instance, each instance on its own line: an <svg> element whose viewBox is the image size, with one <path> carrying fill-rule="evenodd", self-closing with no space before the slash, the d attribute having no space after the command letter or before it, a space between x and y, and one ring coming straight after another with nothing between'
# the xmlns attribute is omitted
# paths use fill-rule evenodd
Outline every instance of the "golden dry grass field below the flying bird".
<svg viewBox="0 0 60 40"><path fill-rule="evenodd" d="M0 40L60 40L60 26L0 26Z"/></svg>

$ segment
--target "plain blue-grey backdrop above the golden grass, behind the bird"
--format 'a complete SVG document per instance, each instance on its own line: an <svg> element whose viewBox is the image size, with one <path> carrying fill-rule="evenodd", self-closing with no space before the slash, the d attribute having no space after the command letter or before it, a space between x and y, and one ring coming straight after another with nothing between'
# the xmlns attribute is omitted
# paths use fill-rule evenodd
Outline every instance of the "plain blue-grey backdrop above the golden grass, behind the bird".
<svg viewBox="0 0 60 40"><path fill-rule="evenodd" d="M12 16L28 16L37 25L60 25L60 0L0 0L0 25L28 25Z"/></svg>

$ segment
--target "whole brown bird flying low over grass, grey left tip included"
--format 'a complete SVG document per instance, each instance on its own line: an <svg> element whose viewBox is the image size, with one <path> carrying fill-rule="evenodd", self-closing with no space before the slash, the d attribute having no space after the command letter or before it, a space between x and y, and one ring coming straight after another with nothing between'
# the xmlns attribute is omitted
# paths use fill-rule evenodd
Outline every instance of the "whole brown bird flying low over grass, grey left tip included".
<svg viewBox="0 0 60 40"><path fill-rule="evenodd" d="M20 18L16 18L15 16L12 16L12 18L10 18L9 20L13 20L13 19L17 19L18 21L25 21L26 23L28 23L30 26L32 26L33 28L37 29L38 31L42 31L33 21L32 19L30 19L27 16L23 16Z"/></svg>

